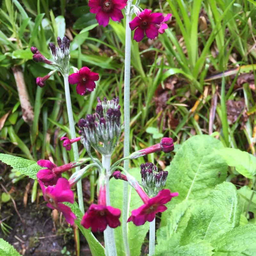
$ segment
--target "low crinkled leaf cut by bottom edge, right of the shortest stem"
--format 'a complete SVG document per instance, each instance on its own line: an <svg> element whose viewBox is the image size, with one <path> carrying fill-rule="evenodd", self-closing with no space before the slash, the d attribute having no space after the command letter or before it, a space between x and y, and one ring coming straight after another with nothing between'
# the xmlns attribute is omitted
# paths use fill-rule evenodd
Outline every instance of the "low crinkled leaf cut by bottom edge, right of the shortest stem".
<svg viewBox="0 0 256 256"><path fill-rule="evenodd" d="M207 241L191 243L184 246L178 246L172 250L156 254L156 256L211 256L214 248Z"/></svg>

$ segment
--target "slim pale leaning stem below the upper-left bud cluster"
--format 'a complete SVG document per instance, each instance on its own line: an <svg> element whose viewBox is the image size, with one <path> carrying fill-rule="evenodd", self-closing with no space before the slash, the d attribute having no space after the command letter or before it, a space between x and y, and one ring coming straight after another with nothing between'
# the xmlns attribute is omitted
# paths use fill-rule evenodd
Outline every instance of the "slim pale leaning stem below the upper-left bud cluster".
<svg viewBox="0 0 256 256"><path fill-rule="evenodd" d="M68 110L68 122L70 127L70 135L71 139L76 138L76 130L75 123L70 99L70 91L69 91L69 83L68 83L68 75L63 76L64 78L64 86L65 86L65 96L66 96L66 104ZM74 160L76 161L79 158L78 146L77 142L73 143L73 152L74 152ZM76 171L79 171L80 167L76 167ZM84 201L83 201L83 191L82 191L82 180L79 180L76 184L77 186L77 195L78 195L78 204L81 212L84 214Z"/></svg>

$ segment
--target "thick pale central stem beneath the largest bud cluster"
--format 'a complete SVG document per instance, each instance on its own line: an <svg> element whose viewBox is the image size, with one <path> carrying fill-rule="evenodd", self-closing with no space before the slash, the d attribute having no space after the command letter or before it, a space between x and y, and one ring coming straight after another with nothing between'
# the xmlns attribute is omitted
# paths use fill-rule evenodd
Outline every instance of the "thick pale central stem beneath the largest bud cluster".
<svg viewBox="0 0 256 256"><path fill-rule="evenodd" d="M109 178L111 176L110 164L111 164L111 155L102 156L102 165L103 165L103 168L106 169L105 185L106 185L106 204L107 205L110 205L110 195L109 195ZM110 228L109 226L107 226L107 228L104 230L104 240L105 240L106 255L117 256L116 241L115 241L113 228Z"/></svg>

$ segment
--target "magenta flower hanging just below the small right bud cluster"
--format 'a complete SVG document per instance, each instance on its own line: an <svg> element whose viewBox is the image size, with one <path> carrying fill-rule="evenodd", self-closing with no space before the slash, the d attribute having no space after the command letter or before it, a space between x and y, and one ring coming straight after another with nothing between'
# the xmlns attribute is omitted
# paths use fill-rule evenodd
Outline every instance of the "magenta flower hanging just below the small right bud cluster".
<svg viewBox="0 0 256 256"><path fill-rule="evenodd" d="M127 222L133 221L136 226L144 225L146 221L153 221L157 212L164 212L167 207L164 205L171 201L172 197L179 193L171 193L169 189L160 190L157 196L149 198L142 188L138 187L138 194L142 196L144 204L132 211Z"/></svg>

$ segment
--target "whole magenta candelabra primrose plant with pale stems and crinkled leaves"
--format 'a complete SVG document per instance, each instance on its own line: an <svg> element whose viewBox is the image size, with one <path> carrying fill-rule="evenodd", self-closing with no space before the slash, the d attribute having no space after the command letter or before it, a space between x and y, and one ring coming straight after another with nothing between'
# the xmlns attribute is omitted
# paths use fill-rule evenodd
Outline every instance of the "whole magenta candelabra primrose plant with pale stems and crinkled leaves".
<svg viewBox="0 0 256 256"><path fill-rule="evenodd" d="M207 135L190 138L163 171L144 160L140 167L129 169L130 159L144 159L148 154L168 154L174 150L172 138L164 137L153 146L130 152L131 31L135 30L133 40L136 42L143 40L144 32L154 39L168 29L165 22L172 15L142 10L138 5L139 2L133 5L131 0L90 0L88 4L99 25L104 27L109 19L120 22L124 18L123 12L126 15L124 106L119 105L118 97L98 98L95 112L84 116L75 125L69 84L76 85L77 94L83 96L96 88L99 74L91 71L92 67L80 70L70 67L67 37L62 40L58 37L57 47L49 44L51 60L36 47L31 47L34 61L54 68L48 75L36 78L38 86L44 87L56 71L63 76L70 135L60 140L67 151L73 149L70 152L75 160L61 166L50 160L42 159L36 163L4 154L0 154L0 160L38 180L46 205L62 212L70 225L75 223L79 227L92 255L140 255L148 228L149 255L218 256L224 255L223 252L252 255L255 245L246 239L249 235L256 236L256 228L240 222L244 215L239 195L235 186L225 181L228 165L227 160L220 157L223 146L219 140ZM133 14L136 17L132 20ZM79 136L76 136L75 127L79 129ZM122 132L124 157L111 164ZM79 158L77 143L84 146L87 158ZM99 159L93 157L93 150L101 154ZM74 168L69 179L62 178L62 173ZM81 180L92 168L98 171L98 202L85 209ZM254 178L255 189L255 170L250 175ZM75 185L79 206L74 200ZM246 220L249 206L244 216ZM161 227L157 231L156 215L161 216ZM92 232L104 232L105 248ZM243 248L237 246L238 241L243 243Z"/></svg>

